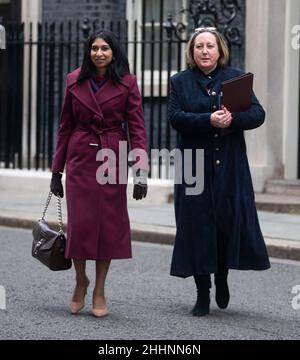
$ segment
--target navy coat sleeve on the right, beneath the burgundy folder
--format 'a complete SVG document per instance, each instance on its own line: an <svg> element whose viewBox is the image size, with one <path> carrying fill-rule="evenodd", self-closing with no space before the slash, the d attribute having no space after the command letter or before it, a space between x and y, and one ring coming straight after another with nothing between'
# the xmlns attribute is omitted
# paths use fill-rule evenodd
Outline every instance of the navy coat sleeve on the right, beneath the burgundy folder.
<svg viewBox="0 0 300 360"><path fill-rule="evenodd" d="M230 110L230 109L229 109ZM265 121L265 111L260 105L254 93L252 93L252 105L243 112L232 113L233 122L230 129L251 130L258 128Z"/></svg>

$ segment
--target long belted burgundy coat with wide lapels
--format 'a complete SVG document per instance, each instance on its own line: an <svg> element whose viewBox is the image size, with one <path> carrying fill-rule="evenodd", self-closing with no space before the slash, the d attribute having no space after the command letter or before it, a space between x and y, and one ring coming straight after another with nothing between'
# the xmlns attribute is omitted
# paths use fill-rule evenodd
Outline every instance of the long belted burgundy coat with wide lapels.
<svg viewBox="0 0 300 360"><path fill-rule="evenodd" d="M99 184L98 150L109 148L118 157L119 141L147 150L144 115L136 77L128 74L114 85L108 80L96 93L89 80L76 82L80 68L67 76L53 172L66 164L68 231L66 257L73 259L130 258L127 184ZM93 145L90 145L93 144ZM98 146L95 146L97 144ZM118 158L117 158L118 160ZM116 163L117 168L119 162Z"/></svg>

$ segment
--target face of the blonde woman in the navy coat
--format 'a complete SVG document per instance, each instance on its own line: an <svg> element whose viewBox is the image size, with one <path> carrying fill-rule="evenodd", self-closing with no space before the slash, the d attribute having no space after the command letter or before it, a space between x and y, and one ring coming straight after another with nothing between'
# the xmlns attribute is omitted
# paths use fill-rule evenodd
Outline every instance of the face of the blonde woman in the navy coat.
<svg viewBox="0 0 300 360"><path fill-rule="evenodd" d="M194 43L194 60L198 68L209 74L217 67L219 57L215 35L210 32L199 34Z"/></svg>

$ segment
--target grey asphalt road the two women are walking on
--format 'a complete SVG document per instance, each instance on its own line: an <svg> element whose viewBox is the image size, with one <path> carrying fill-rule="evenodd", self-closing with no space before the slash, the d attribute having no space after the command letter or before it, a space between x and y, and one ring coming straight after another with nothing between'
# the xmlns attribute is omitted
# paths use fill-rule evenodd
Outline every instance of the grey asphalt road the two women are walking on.
<svg viewBox="0 0 300 360"><path fill-rule="evenodd" d="M91 344L87 346L83 358L110 359L109 354L99 357L97 353L107 340L152 340L155 345L159 344L156 340L178 339L300 339L297 306L300 262L271 258L271 268L267 271L230 271L229 307L226 310L217 307L213 286L210 314L195 318L191 314L196 299L194 279L169 275L172 247L133 241L132 259L112 261L109 269L105 285L109 315L92 316L95 262L87 261L91 284L85 307L78 315L71 316L68 304L74 289L74 269L53 272L34 260L30 253L30 230L0 227L0 231L1 353L4 353L3 340L97 340L95 348ZM5 289L5 301L3 297L1 301L1 289L2 294ZM37 350L36 343L34 346ZM56 347L57 344L46 347L43 344L40 358L45 351L51 353ZM19 357L26 354L25 343L14 348ZM260 353L266 351L259 349ZM11 353L12 346L7 350ZM201 344L203 357L205 350L202 350ZM284 355L288 356L292 351L290 342L286 350ZM81 348L80 353L83 355ZM188 352L185 357L189 354L198 358ZM57 357L57 352L53 355ZM121 354L116 358L125 359ZM140 353L133 358L144 356Z"/></svg>

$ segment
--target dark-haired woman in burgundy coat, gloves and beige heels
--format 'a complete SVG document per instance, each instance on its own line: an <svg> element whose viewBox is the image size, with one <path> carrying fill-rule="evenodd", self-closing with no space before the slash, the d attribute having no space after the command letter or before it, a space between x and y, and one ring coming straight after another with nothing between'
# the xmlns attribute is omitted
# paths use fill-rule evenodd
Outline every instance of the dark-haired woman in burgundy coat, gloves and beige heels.
<svg viewBox="0 0 300 360"><path fill-rule="evenodd" d="M84 307L89 285L86 260L96 260L93 314L100 317L108 313L104 285L111 259L132 256L126 198L127 146L125 160L119 161L119 143L127 140L125 121L131 148L145 154L144 163L134 165L138 176L133 197L139 200L147 193L147 140L141 96L120 43L113 33L100 31L87 41L81 68L67 76L52 164L50 188L62 197L61 177L66 163L66 257L73 259L76 271L70 304L73 314ZM100 149L113 150L116 161L109 163L106 172L115 171L116 181L99 181L99 169L108 163L107 158L99 156ZM124 168L125 181L120 181L118 175Z"/></svg>

